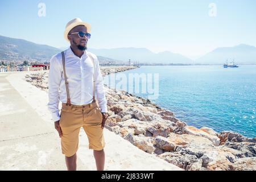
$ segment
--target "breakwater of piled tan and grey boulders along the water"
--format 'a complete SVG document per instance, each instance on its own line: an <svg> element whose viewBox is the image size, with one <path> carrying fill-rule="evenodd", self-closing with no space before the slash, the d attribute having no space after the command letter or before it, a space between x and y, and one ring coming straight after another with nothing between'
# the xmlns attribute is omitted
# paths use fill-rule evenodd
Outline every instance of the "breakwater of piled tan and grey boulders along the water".
<svg viewBox="0 0 256 182"><path fill-rule="evenodd" d="M38 85L45 77L47 73L40 73L41 81L31 78L31 83ZM256 170L256 138L197 129L150 100L108 86L105 90L109 114L105 127L139 149L185 170Z"/></svg>

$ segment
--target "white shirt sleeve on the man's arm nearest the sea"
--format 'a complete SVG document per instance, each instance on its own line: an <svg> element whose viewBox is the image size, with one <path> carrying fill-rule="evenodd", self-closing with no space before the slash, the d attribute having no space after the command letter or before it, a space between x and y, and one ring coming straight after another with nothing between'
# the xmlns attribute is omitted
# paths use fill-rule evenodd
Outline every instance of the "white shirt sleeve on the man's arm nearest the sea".
<svg viewBox="0 0 256 182"><path fill-rule="evenodd" d="M95 90L98 104L100 105L101 112L107 113L107 100L104 90L104 80L101 74L100 65L98 63L98 57L96 56L96 78L95 78Z"/></svg>

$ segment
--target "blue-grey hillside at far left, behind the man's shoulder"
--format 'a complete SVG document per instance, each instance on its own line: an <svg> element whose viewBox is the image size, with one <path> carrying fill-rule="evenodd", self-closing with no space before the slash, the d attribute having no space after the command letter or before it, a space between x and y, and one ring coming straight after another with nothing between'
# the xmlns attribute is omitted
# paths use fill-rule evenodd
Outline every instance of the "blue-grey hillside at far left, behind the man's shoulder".
<svg viewBox="0 0 256 182"><path fill-rule="evenodd" d="M55 47L0 36L0 58L2 59L49 60L57 52L60 52L60 49Z"/></svg>

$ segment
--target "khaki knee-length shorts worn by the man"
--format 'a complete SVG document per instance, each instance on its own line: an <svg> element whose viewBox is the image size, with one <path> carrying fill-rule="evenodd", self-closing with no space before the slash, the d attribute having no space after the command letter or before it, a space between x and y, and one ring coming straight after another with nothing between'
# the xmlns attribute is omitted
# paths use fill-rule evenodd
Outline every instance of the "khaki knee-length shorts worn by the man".
<svg viewBox="0 0 256 182"><path fill-rule="evenodd" d="M102 150L105 147L102 114L96 102L86 105L62 104L60 127L62 131L61 150L65 156L72 156L78 150L79 132L83 127L89 140L89 149Z"/></svg>

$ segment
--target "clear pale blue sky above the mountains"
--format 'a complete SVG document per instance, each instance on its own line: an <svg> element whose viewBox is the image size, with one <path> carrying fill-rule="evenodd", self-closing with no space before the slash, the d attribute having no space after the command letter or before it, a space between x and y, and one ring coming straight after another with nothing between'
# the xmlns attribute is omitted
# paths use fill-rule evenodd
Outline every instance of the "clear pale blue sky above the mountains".
<svg viewBox="0 0 256 182"><path fill-rule="evenodd" d="M38 4L46 5L39 17ZM216 16L209 16L215 3ZM92 24L88 47L144 47L197 57L217 47L256 46L255 0L0 1L0 35L67 47L66 23Z"/></svg>

